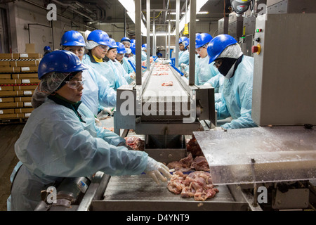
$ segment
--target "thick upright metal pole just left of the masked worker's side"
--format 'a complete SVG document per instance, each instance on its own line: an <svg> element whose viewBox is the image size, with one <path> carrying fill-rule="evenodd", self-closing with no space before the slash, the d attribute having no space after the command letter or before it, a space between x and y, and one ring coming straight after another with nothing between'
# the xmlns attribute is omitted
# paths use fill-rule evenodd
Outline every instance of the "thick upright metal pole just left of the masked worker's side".
<svg viewBox="0 0 316 225"><path fill-rule="evenodd" d="M195 33L197 19L197 0L190 1L190 61L189 61L189 85L195 84Z"/></svg>

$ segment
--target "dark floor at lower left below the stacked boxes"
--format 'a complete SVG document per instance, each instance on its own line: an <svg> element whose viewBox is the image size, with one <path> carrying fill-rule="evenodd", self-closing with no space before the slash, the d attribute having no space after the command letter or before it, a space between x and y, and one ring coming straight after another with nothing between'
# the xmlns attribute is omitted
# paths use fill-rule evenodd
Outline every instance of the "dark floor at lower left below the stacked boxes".
<svg viewBox="0 0 316 225"><path fill-rule="evenodd" d="M6 211L6 200L10 195L10 176L18 163L14 152L15 141L25 124L0 124L0 211Z"/></svg>

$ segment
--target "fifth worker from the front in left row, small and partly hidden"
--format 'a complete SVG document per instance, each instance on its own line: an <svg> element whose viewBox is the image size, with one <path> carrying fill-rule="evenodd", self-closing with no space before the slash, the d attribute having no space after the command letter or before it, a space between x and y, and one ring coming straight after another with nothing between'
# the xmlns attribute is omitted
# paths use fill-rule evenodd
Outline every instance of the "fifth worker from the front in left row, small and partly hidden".
<svg viewBox="0 0 316 225"><path fill-rule="evenodd" d="M119 70L124 70L121 73L123 74L126 81L131 84L133 80L135 79L135 71L133 70L133 67L131 66L131 63L129 62L129 58L124 57L124 54L126 53L126 49L124 44L121 44L120 42L117 42L117 67Z"/></svg>

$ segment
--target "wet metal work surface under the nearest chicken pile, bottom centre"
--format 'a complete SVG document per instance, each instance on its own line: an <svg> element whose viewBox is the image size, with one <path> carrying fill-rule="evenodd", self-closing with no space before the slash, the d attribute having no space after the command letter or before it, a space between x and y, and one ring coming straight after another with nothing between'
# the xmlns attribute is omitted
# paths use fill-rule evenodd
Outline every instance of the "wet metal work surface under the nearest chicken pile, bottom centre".
<svg viewBox="0 0 316 225"><path fill-rule="evenodd" d="M246 210L246 202L236 202L227 186L216 186L219 192L204 202L182 198L171 193L166 183L157 185L147 175L112 176L104 200L94 200L93 210Z"/></svg>

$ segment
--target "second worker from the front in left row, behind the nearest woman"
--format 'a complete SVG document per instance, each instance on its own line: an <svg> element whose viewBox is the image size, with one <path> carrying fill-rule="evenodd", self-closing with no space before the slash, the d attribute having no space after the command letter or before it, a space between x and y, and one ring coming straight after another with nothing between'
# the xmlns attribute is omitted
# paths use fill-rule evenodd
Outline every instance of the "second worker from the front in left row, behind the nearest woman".
<svg viewBox="0 0 316 225"><path fill-rule="evenodd" d="M62 35L60 40L62 49L72 51L80 60L84 57L84 46L86 46L84 37L80 32L70 30ZM86 80L84 83L84 90L81 101L88 106L88 108L98 115L99 104L103 108L109 108L108 113L112 114L110 108L114 108L117 103L117 92L110 87L110 82L98 71L93 69L90 65L82 72L82 77Z"/></svg>

